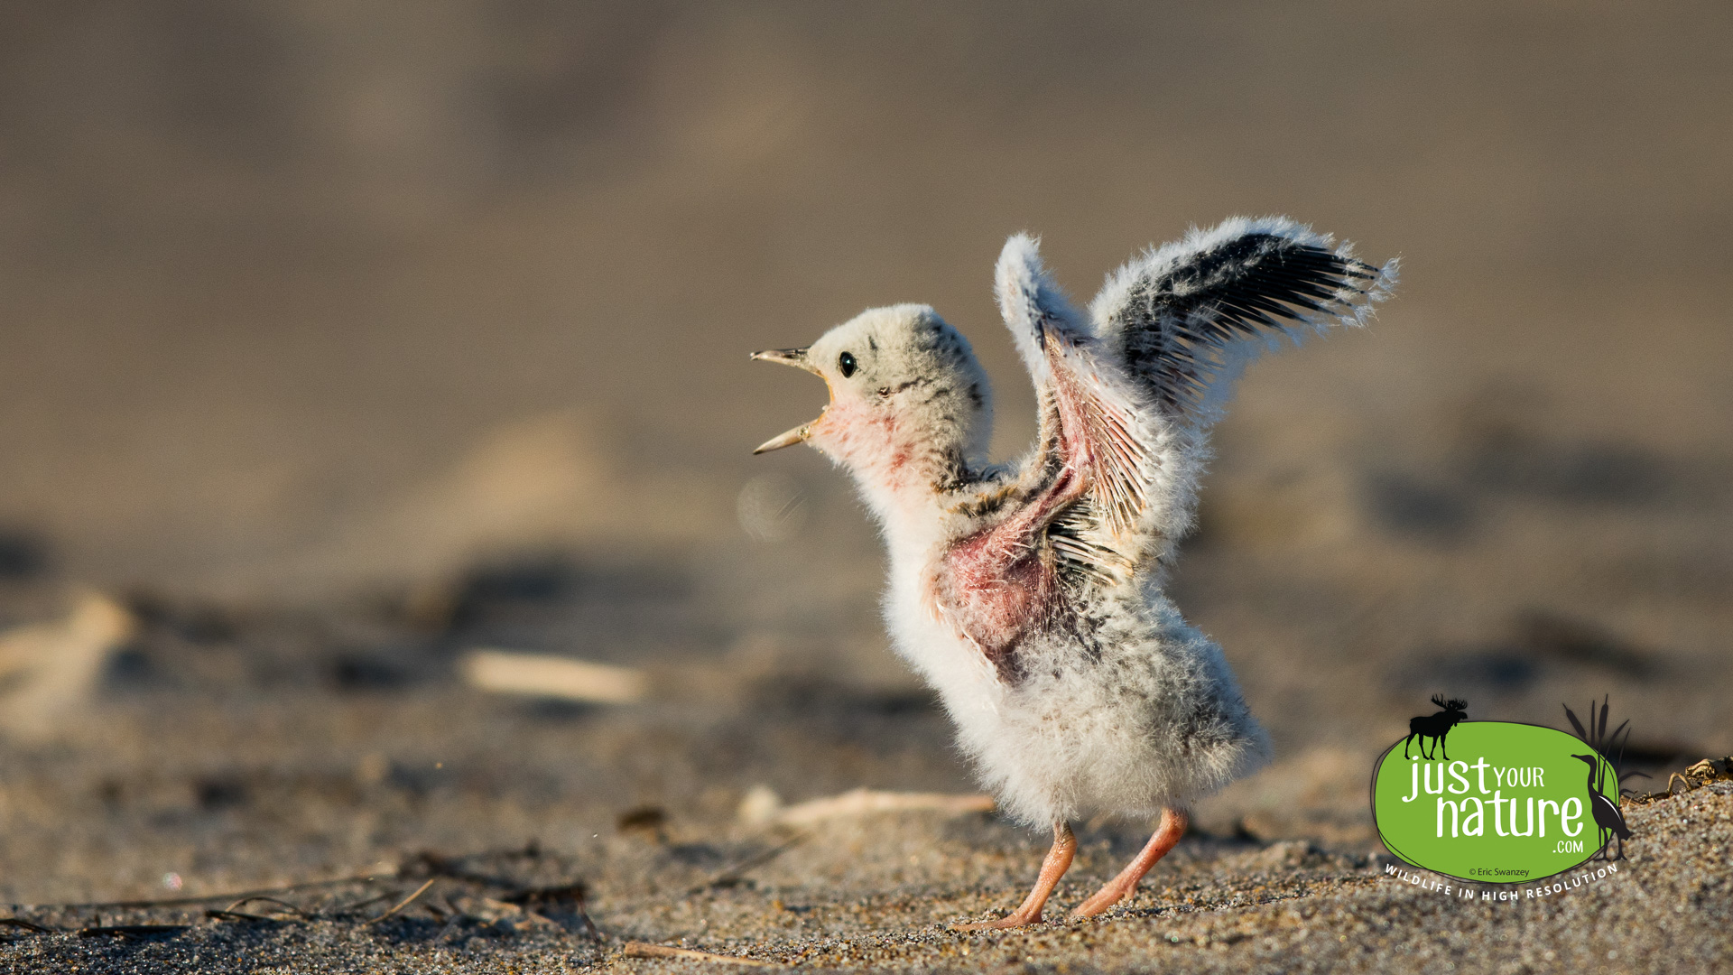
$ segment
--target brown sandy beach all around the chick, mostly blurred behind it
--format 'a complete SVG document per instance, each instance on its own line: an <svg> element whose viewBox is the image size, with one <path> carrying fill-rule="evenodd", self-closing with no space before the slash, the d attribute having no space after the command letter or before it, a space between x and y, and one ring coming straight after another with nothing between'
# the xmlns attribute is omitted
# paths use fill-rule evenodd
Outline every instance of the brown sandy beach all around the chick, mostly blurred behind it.
<svg viewBox="0 0 1733 975"><path fill-rule="evenodd" d="M1367 808L1437 692L1610 694L1639 791L1733 753L1728 19L16 5L0 972L1733 968L1726 782L1515 904L1388 873ZM1087 298L1270 212L1404 267L1248 373L1173 579L1275 762L1100 919L950 933L1042 836L773 821L976 786L842 475L749 456L821 389L745 354L934 304L1014 456L1009 232ZM489 692L477 651L641 692ZM1147 828L1080 824L1059 904Z"/></svg>

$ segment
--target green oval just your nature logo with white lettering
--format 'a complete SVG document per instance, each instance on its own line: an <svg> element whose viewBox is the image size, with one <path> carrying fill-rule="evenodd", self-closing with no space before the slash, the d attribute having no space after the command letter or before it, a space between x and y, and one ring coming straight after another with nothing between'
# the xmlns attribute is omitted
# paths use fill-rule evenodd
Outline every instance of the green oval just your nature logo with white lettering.
<svg viewBox="0 0 1733 975"><path fill-rule="evenodd" d="M1378 834L1409 864L1522 883L1580 866L1606 845L1610 822L1622 828L1619 775L1582 739L1509 722L1445 730L1433 748L1416 736L1392 744L1373 775Z"/></svg>

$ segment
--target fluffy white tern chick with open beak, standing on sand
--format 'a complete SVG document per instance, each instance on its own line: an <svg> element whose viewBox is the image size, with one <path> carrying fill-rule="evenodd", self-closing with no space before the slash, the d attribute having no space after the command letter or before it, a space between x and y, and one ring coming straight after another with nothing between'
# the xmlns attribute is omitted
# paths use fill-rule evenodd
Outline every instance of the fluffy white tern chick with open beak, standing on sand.
<svg viewBox="0 0 1733 975"><path fill-rule="evenodd" d="M1144 850L1073 911L1125 899L1185 833L1189 803L1269 744L1222 649L1161 592L1192 524L1206 432L1244 364L1282 335L1360 324L1397 265L1286 219L1232 219L1107 276L1080 312L1019 234L998 307L1035 378L1040 432L986 461L991 401L969 340L927 305L873 309L806 349L757 352L823 376L806 442L854 475L891 555L898 652L939 692L1000 807L1054 847L1009 928L1042 919L1081 815L1161 815Z"/></svg>

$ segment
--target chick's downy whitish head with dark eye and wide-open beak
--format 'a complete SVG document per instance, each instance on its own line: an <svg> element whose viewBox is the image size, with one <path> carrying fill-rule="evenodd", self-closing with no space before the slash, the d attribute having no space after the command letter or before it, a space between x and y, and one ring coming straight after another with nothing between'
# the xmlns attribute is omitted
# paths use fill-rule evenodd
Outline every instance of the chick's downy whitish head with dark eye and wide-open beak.
<svg viewBox="0 0 1733 975"><path fill-rule="evenodd" d="M847 467L875 505L931 496L986 461L986 373L969 340L927 305L872 309L806 349L752 357L799 366L830 387L818 420L754 453L808 442Z"/></svg>

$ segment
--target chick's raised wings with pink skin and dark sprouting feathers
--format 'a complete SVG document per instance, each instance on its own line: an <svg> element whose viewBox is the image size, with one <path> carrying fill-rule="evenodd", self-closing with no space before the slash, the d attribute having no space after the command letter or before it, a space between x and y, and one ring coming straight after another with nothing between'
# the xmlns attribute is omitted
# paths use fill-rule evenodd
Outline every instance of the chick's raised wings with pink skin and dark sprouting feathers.
<svg viewBox="0 0 1733 975"><path fill-rule="evenodd" d="M1040 441L1019 477L1074 579L1123 581L1191 522L1203 437L1258 349L1357 324L1395 281L1286 219L1234 219L1151 250L1107 278L1085 317L1014 236L1000 312L1035 378Z"/></svg>

